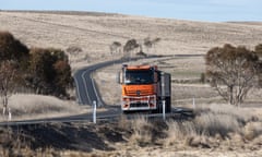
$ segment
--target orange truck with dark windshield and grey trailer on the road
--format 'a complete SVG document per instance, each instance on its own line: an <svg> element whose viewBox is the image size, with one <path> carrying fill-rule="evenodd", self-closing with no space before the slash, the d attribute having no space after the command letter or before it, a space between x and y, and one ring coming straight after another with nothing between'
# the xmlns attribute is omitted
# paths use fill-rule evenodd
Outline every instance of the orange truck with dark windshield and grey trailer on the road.
<svg viewBox="0 0 262 157"><path fill-rule="evenodd" d="M121 109L129 111L171 111L170 74L156 65L123 64L118 75L121 84Z"/></svg>

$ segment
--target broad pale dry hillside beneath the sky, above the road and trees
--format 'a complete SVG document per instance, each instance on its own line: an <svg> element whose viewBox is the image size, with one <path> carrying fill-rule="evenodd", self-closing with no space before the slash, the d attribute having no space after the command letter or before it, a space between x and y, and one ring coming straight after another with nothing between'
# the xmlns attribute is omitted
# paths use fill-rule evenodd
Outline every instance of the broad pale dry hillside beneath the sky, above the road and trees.
<svg viewBox="0 0 262 157"><path fill-rule="evenodd" d="M0 12L0 29L31 47L80 47L70 55L74 68L110 57L109 45L130 38L159 37L154 53L198 55L226 43L253 48L262 40L261 23L204 23L91 12ZM92 61L91 61L92 60Z"/></svg>

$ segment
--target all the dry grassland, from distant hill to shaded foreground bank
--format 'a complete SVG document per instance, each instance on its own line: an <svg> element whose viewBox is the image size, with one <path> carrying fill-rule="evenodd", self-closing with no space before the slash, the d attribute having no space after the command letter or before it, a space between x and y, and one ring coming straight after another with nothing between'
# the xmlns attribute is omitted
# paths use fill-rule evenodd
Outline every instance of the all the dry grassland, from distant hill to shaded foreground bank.
<svg viewBox="0 0 262 157"><path fill-rule="evenodd" d="M129 64L156 64L172 76L172 107L193 108L191 120L166 122L124 117L111 122L51 123L0 128L0 156L253 156L262 155L262 92L253 88L242 108L225 101L199 80L205 71L203 56L226 43L250 49L262 41L262 23L207 23L83 12L4 12L0 29L9 31L29 47L55 47L68 52L78 69L122 55L109 51L112 41L122 45L135 38L159 37L146 59ZM182 55L182 56L176 56ZM174 57L172 57L174 56ZM94 74L104 101L119 106L120 86L116 74L120 64ZM48 118L86 112L73 101L53 97L17 94L11 97L14 119ZM0 118L1 119L1 118Z"/></svg>

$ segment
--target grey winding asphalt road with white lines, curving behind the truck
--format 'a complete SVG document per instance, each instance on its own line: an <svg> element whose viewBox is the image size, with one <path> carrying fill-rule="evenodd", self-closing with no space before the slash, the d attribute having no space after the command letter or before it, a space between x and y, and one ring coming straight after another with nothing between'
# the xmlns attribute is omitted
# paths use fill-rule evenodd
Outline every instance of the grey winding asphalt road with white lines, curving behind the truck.
<svg viewBox="0 0 262 157"><path fill-rule="evenodd" d="M165 57L165 56L162 56ZM176 57L176 56L172 56ZM178 57L188 57L188 56L178 56ZM191 57L191 56L190 56ZM158 56L152 56L147 58L160 58ZM139 58L133 58L131 60L138 60ZM129 60L129 61L131 61ZM102 63L97 63L94 65L90 65L79 70L74 74L75 88L78 101L80 105L93 105L93 101L97 102L97 106L106 106L106 104L102 100L97 85L92 77L92 74L102 68L111 65L114 63L123 63L127 60L112 60L106 61ZM192 113L191 110L182 109L182 108L172 108L172 113ZM108 119L116 118L121 114L120 107L106 107L106 111L97 112L97 119ZM158 114L160 116L160 114ZM167 114L168 116L168 114ZM151 114L147 117L157 117L156 114ZM17 124L35 124L35 123L46 123L46 122L73 122L73 121L92 121L93 114L84 113L79 116L70 116L70 117L61 117L61 118L50 118L50 119L38 119L38 120L25 120L25 121L11 121L11 122L0 122L0 125L17 125Z"/></svg>

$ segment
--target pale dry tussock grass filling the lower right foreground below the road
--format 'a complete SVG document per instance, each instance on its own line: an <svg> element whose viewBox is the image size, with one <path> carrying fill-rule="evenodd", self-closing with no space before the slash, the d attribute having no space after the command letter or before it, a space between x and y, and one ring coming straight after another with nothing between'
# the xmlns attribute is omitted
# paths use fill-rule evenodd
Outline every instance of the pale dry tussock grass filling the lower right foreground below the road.
<svg viewBox="0 0 262 157"><path fill-rule="evenodd" d="M202 148L196 156L239 156L241 152L246 157L252 152L252 156L259 157L262 153L262 119L252 110L230 105L205 105L196 108L195 118L191 121L169 119L162 122L167 128L142 117L133 120L122 117L119 126L131 131L131 135L124 150L119 149L115 154L136 156L139 150L143 156L152 156L157 150L163 156L187 156L192 155L195 147ZM209 153L204 153L205 149ZM180 154L181 150L187 153Z"/></svg>

